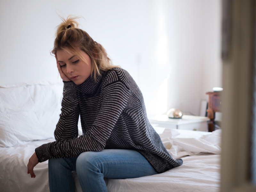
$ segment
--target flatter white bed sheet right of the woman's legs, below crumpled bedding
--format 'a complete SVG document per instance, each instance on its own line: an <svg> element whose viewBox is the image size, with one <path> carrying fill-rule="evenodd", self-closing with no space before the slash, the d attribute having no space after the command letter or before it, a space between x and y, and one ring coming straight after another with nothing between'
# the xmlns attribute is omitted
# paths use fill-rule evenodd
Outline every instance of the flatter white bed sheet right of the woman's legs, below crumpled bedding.
<svg viewBox="0 0 256 192"><path fill-rule="evenodd" d="M184 157L183 165L161 174L135 179L109 179L109 192L217 192L220 189L220 155ZM82 190L81 190L82 191ZM80 191L79 191L80 192Z"/></svg>

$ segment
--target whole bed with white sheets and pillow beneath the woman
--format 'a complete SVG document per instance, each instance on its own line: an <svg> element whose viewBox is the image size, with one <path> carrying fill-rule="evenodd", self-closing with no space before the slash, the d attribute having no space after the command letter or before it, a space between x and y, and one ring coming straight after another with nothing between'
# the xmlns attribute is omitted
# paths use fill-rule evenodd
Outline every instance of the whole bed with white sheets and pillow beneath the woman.
<svg viewBox="0 0 256 192"><path fill-rule="evenodd" d="M48 161L36 165L34 168L36 178L31 178L27 174L27 164L36 147L54 141L51 134L55 126L52 127L52 125L56 125L58 121L61 90L61 84L45 82L0 86L0 98L2 99L0 101L1 191L50 191ZM12 98L10 93L15 92L17 92L16 97L23 98L22 95L24 95L26 99L17 99L15 96ZM51 102L47 106L42 99L51 100ZM6 102L17 103L11 104L10 107L6 105ZM27 106L32 109L30 110ZM34 128L35 130L31 132L35 126L44 130L39 131L38 134L38 130ZM182 158L183 165L147 177L124 180L105 178L109 192L219 191L221 130L210 133L166 129L156 124L153 127L171 156ZM28 134L19 137L21 130L22 133L28 131ZM79 134L82 134L80 126L78 130ZM73 172L73 179L75 191L81 192L76 172Z"/></svg>

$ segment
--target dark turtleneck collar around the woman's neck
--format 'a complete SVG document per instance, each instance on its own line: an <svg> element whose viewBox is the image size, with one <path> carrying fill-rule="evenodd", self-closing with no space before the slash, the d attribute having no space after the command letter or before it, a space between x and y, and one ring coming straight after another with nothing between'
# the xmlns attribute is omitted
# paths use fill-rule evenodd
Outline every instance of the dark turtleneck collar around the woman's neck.
<svg viewBox="0 0 256 192"><path fill-rule="evenodd" d="M78 85L78 92L90 95L96 94L107 71L100 71L100 73L101 76L97 74L97 81L95 81L94 72L92 72L92 76L89 76L82 84Z"/></svg>

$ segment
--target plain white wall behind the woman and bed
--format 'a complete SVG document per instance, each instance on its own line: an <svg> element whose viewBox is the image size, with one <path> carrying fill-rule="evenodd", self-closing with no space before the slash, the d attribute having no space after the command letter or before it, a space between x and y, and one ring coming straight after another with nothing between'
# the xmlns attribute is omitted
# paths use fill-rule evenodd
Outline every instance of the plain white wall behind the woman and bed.
<svg viewBox="0 0 256 192"><path fill-rule="evenodd" d="M10 0L0 2L0 84L60 81L50 55L58 14L82 29L139 85L148 116L199 114L221 86L220 0Z"/></svg>

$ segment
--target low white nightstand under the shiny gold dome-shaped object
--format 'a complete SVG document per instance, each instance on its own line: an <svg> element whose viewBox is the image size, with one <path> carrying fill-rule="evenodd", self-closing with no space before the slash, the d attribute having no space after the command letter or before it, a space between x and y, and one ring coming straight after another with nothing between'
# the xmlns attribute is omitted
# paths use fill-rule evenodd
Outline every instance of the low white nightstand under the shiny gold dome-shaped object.
<svg viewBox="0 0 256 192"><path fill-rule="evenodd" d="M202 116L183 115L181 119L172 119L167 115L149 118L150 124L170 129L186 129L194 131L208 131L207 121L210 119Z"/></svg>

